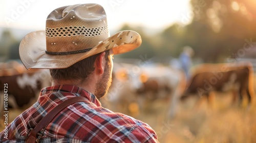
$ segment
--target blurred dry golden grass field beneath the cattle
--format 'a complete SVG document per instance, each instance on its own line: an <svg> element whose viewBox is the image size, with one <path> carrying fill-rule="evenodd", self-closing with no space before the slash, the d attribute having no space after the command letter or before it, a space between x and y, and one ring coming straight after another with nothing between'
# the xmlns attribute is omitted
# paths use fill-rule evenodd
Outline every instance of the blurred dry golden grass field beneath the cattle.
<svg viewBox="0 0 256 143"><path fill-rule="evenodd" d="M255 81L256 77L254 88ZM204 99L201 99L202 102L198 105L198 100L190 98L180 103L177 115L173 118L166 116L167 102L160 100L151 103L147 111L133 116L149 124L157 132L160 142L256 141L255 98L250 107L247 107L246 100L240 106L233 105L229 93L216 93L211 105ZM23 110L10 109L8 122L10 123ZM3 130L3 118L0 123L0 130Z"/></svg>

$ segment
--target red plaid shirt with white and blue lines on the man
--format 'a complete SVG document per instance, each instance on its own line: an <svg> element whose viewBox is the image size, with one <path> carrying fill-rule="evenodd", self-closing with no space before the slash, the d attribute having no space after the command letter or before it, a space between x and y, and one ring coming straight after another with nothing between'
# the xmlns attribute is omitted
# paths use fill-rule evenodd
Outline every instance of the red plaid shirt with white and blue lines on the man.
<svg viewBox="0 0 256 143"><path fill-rule="evenodd" d="M88 100L63 109L47 126L40 142L158 142L147 124L101 107L92 93L72 85L42 89L38 101L8 125L8 140L4 131L0 133L0 142L24 142L29 129L47 112L76 96Z"/></svg>

